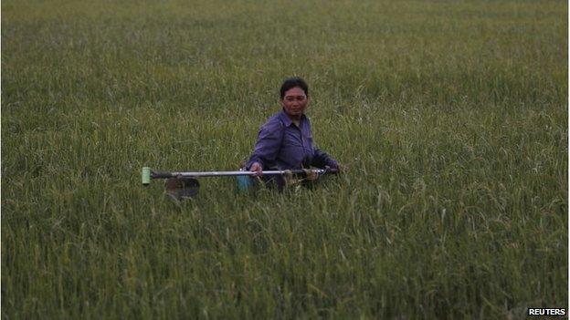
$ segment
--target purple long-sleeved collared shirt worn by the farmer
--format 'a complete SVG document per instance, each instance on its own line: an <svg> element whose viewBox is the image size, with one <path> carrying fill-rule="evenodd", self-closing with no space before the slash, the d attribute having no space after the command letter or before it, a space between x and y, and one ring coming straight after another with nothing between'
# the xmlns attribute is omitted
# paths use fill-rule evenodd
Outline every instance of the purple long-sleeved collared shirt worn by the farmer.
<svg viewBox="0 0 570 320"><path fill-rule="evenodd" d="M297 127L284 110L274 114L261 126L258 142L248 160L247 169L259 162L263 170L301 168L338 168L336 160L317 149L312 142L311 122L301 116Z"/></svg>

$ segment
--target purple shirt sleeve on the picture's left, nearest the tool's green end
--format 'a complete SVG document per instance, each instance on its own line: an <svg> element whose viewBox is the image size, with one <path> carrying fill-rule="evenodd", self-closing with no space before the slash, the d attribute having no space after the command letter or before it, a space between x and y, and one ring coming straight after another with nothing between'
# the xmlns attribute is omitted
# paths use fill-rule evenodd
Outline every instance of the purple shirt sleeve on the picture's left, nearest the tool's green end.
<svg viewBox="0 0 570 320"><path fill-rule="evenodd" d="M254 162L259 162L263 170L275 162L281 148L284 128L280 121L270 121L259 129L258 142L253 154L248 160L246 169L249 170Z"/></svg>

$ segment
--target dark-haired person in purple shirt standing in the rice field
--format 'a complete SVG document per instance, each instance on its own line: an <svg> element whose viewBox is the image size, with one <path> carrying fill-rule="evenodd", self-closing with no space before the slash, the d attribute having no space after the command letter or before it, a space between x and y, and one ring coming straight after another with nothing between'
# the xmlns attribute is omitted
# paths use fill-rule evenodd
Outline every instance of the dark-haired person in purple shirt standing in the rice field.
<svg viewBox="0 0 570 320"><path fill-rule="evenodd" d="M327 153L315 147L311 122L304 112L309 106L309 87L301 77L286 79L280 88L280 112L271 116L261 126L258 141L246 164L246 170L298 170L316 167L319 169L339 169L339 164ZM309 175L308 180L316 180ZM275 180L279 189L285 185L280 176L272 176L265 181Z"/></svg>

